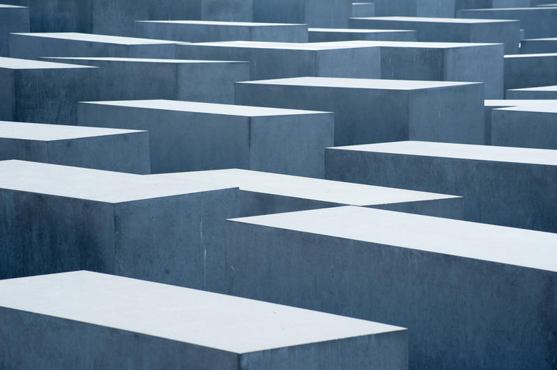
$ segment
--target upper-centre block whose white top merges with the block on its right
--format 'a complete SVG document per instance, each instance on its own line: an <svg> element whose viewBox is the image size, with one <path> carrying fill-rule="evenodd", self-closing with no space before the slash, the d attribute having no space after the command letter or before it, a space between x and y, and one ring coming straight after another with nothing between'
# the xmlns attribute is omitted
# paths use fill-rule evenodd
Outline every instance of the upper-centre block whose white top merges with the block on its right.
<svg viewBox="0 0 557 370"><path fill-rule="evenodd" d="M379 78L377 47L318 43L228 41L176 45L176 58L249 61L250 79L303 76Z"/></svg>

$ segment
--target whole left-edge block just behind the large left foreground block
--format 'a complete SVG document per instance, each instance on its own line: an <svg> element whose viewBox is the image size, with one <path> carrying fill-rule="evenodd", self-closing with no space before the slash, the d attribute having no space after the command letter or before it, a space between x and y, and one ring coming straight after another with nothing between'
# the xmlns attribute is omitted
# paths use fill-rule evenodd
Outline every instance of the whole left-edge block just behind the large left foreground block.
<svg viewBox="0 0 557 370"><path fill-rule="evenodd" d="M151 172L147 131L0 121L0 161L6 159Z"/></svg>

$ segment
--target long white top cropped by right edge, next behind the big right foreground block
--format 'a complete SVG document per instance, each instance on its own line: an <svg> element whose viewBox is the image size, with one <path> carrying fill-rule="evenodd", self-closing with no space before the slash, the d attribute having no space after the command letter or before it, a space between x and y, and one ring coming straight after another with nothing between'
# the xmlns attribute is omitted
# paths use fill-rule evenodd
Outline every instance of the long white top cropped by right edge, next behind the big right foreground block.
<svg viewBox="0 0 557 370"><path fill-rule="evenodd" d="M523 147L495 147L489 145L432 143L428 141L398 141L395 143L335 147L334 149L557 166L557 150Z"/></svg>

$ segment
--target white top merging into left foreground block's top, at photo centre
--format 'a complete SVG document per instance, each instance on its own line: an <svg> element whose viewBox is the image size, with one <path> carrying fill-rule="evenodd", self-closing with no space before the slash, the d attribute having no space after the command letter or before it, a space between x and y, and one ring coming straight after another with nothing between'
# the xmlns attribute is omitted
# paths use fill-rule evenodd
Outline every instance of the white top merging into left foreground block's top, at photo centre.
<svg viewBox="0 0 557 370"><path fill-rule="evenodd" d="M452 195L423 193L421 191L408 191L397 188L385 188L382 186L351 184L348 182L336 182L312 179L309 177L278 175L269 172L237 169L168 173L147 176L177 180L184 179L197 182L214 182L215 184L222 184L229 187L239 187L244 191L355 206L459 198L453 197Z"/></svg>

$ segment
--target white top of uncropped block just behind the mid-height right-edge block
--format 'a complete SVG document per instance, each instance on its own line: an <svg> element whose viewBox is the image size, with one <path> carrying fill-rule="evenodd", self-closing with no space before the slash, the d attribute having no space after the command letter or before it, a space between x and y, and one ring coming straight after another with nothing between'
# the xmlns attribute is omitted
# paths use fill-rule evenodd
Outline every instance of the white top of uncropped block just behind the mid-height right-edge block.
<svg viewBox="0 0 557 370"><path fill-rule="evenodd" d="M337 77L294 77L291 79L243 81L238 83L284 85L284 86L312 86L312 87L327 87L327 88L418 90L424 88L446 88L450 86L471 85L477 82L414 81L414 80L386 80L386 79L343 79Z"/></svg>

